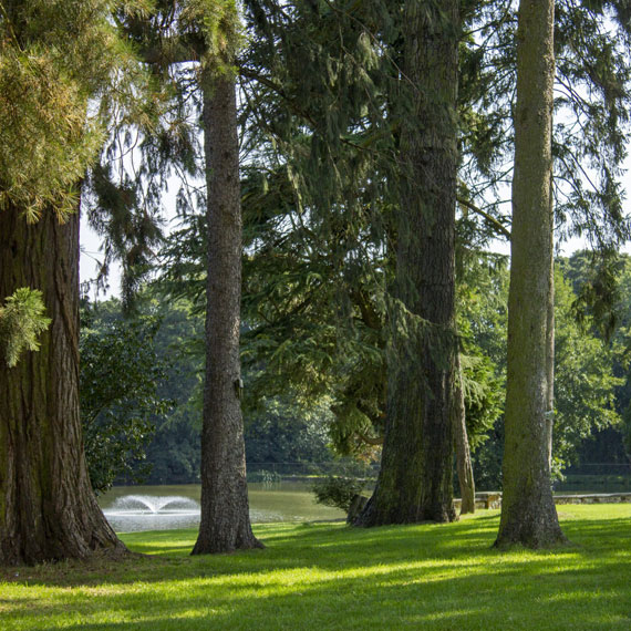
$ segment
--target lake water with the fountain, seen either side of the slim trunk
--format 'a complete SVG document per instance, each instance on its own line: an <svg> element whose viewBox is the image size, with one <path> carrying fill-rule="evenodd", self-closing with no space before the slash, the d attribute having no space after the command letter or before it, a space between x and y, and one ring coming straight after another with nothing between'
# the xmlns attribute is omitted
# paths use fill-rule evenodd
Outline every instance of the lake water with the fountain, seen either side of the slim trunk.
<svg viewBox="0 0 631 631"><path fill-rule="evenodd" d="M115 486L99 498L99 504L116 532L196 528L200 490L197 484ZM316 504L309 484L249 484L248 495L252 524L345 517L343 510Z"/></svg>

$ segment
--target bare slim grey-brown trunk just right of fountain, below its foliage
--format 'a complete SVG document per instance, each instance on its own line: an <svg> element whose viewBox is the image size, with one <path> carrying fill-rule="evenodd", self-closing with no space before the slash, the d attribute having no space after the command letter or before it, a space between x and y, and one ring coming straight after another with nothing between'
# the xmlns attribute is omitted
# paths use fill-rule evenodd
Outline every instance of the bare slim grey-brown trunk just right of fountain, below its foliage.
<svg viewBox="0 0 631 631"><path fill-rule="evenodd" d="M252 535L241 416L241 206L235 82L201 83L208 279L201 523L194 555L262 547Z"/></svg>

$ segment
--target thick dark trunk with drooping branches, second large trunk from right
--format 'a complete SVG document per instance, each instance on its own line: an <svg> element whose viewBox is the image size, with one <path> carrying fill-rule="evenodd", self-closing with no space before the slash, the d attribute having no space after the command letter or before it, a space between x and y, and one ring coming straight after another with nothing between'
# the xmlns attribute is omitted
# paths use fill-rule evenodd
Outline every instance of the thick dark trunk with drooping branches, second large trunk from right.
<svg viewBox="0 0 631 631"><path fill-rule="evenodd" d="M405 2L403 189L381 469L359 526L456 518L452 489L458 2Z"/></svg>

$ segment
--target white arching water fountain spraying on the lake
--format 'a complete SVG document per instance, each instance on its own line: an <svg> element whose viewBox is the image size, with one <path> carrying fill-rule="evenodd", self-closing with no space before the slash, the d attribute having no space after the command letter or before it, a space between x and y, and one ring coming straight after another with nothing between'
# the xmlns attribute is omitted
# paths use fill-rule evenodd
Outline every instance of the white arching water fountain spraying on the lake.
<svg viewBox="0 0 631 631"><path fill-rule="evenodd" d="M199 504L175 495L125 495L103 513L117 532L194 528L199 523Z"/></svg>

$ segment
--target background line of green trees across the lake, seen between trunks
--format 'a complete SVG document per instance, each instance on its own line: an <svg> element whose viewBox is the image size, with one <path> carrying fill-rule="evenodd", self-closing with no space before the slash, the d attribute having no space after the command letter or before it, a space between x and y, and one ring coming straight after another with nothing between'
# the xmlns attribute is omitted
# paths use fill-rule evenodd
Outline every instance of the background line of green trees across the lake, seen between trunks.
<svg viewBox="0 0 631 631"><path fill-rule="evenodd" d="M552 457L557 477L581 463L631 462L629 257L622 257L618 273L619 325L606 340L589 313L579 318L579 292L596 280L590 255L577 251L556 261ZM247 287L249 279L244 282ZM480 490L501 488L507 288L508 271L501 260L470 265L458 283L461 331L469 349L464 369L469 375L465 386L467 431ZM144 291L138 312L132 316L124 313L118 300L85 303L83 308L82 415L89 464L93 463L92 482L100 490L115 479L151 484L199 480L201 316L185 300L174 304L152 299L156 291L159 282ZM301 348L311 342L311 354L288 349L265 362L257 355L257 364L247 363L248 463L324 463L348 455L370 462L379 456L379 446L352 433L349 436L349 421L340 410L356 406L356 391L329 385L344 373L349 358L331 355L330 376L322 373L325 346L309 340L313 325L303 321L304 330L294 330L291 340ZM246 359L259 343L250 342L248 331L245 319L241 356ZM317 371L321 380L328 380L325 387L304 376ZM128 377L124 389L120 387L122 375ZM371 391L370 384L366 391ZM135 465L134 457L138 461ZM105 484L99 482L104 466L108 472Z"/></svg>

